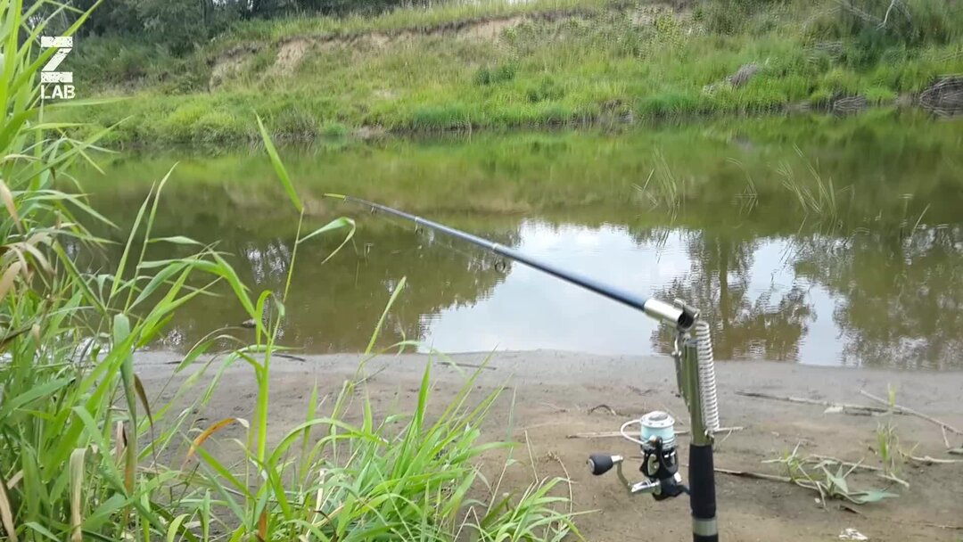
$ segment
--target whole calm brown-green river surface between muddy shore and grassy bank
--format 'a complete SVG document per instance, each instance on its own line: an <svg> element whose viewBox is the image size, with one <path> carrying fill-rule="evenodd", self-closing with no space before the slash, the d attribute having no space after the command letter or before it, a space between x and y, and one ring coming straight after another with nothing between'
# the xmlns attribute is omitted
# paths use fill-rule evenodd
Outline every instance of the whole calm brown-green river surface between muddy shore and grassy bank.
<svg viewBox="0 0 963 542"><path fill-rule="evenodd" d="M300 245L282 342L364 349L404 278L381 347L668 351L664 330L630 309L321 197L338 192L685 298L713 324L717 359L963 368L961 147L961 123L880 114L289 149L304 229L347 215L357 232L324 264L341 233ZM260 151L128 156L81 176L129 224L175 162L154 234L216 242L255 292L283 290L298 220ZM186 307L159 346L246 320L222 294Z"/></svg>

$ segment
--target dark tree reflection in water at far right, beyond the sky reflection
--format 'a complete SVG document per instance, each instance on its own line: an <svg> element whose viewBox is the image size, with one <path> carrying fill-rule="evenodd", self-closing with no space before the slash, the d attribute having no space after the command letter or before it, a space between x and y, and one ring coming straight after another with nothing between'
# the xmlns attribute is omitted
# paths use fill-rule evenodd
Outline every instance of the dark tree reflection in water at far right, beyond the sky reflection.
<svg viewBox="0 0 963 542"><path fill-rule="evenodd" d="M800 240L799 275L836 299L840 361L900 368L960 367L963 228L940 225L902 239L871 234Z"/></svg>

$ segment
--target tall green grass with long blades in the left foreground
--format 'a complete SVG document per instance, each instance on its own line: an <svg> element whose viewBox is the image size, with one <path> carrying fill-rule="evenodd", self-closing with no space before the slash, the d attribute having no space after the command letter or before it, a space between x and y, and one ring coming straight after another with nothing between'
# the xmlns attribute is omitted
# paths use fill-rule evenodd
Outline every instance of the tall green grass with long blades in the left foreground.
<svg viewBox="0 0 963 542"><path fill-rule="evenodd" d="M323 399L316 390L304 423L269 439L271 365L281 349L276 339L292 271L282 288L255 297L221 252L183 236L156 236L169 175L140 204L115 269L90 272L76 265L76 249L110 246L81 223L116 226L85 198L55 185L96 138L60 138L56 131L63 126L43 120L56 111L39 107L37 71L53 51L36 56L43 27L36 16L20 0L0 0L5 539L454 540L460 532L478 540L558 540L574 530L571 513L556 511L567 500L550 495L560 479L535 481L517 498L493 495L497 484L484 495L480 455L509 445L482 441L479 427L498 393L473 403L472 377L440 416L429 419L427 369L412 411L377 420L382 414L373 412L370 401L353 401L364 391L362 366L328 415L318 413ZM76 24L81 22L83 17ZM299 194L271 140L265 144L275 175L303 218ZM311 233L298 231L289 270L299 245L337 232L345 234L344 245L354 230L350 219L334 219ZM154 259L156 245L191 253ZM253 344L205 337L173 368L183 377L173 397L150 400L135 351L175 311L219 284L257 323ZM403 284L387 300L385 314ZM220 357L204 355L222 340L233 349ZM368 353L376 352L370 346ZM253 418L204 423L198 411L236 363L249 367L257 382ZM246 428L247 438L237 441L240 467L205 447L227 426Z"/></svg>

